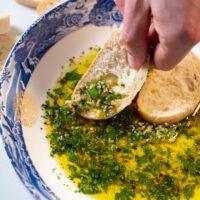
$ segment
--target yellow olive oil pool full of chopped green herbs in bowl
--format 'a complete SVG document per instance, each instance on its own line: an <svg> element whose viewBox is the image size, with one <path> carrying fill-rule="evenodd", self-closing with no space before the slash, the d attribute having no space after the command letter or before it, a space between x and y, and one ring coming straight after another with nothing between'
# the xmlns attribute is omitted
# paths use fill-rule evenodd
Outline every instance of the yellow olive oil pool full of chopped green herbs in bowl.
<svg viewBox="0 0 200 200"><path fill-rule="evenodd" d="M200 113L155 125L141 119L133 102L116 117L94 122L66 105L98 51L72 59L43 106L52 154L66 176L96 199L199 200Z"/></svg>

